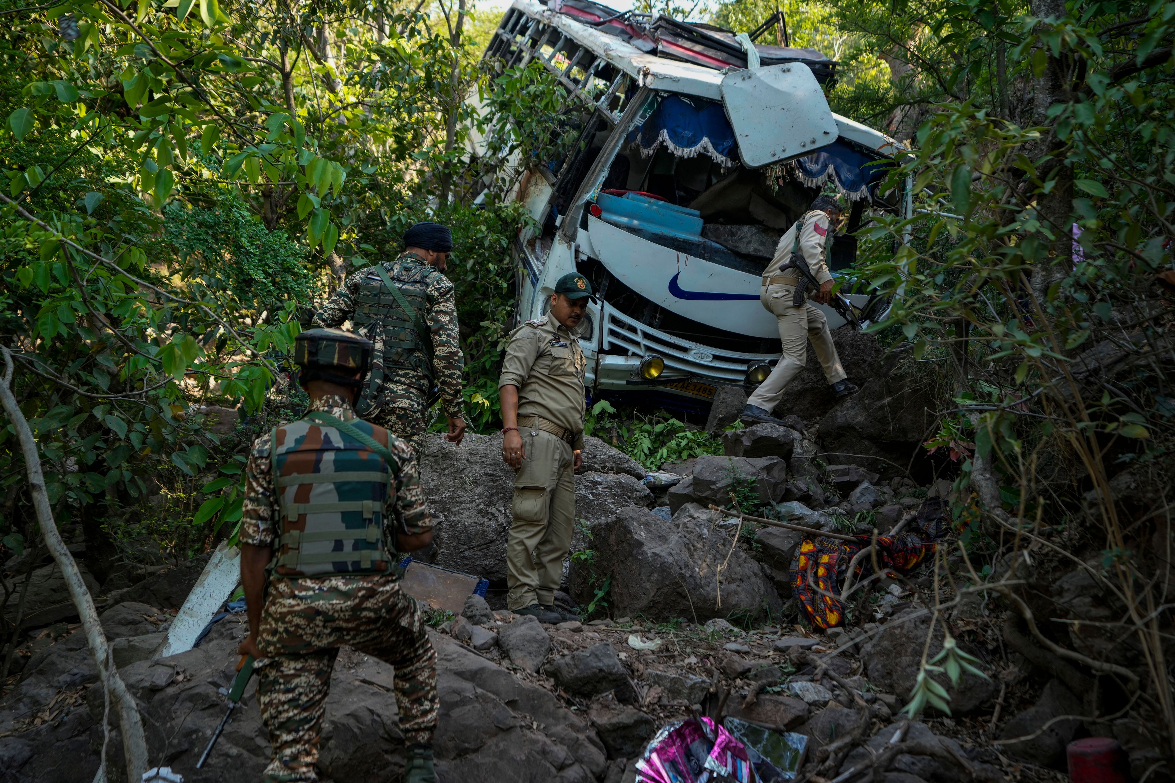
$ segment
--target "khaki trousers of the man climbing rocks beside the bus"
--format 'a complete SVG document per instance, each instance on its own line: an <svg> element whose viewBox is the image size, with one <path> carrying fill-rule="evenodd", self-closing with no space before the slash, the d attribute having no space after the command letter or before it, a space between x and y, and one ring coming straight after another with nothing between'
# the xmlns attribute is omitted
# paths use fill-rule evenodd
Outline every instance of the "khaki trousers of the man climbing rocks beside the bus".
<svg viewBox="0 0 1175 783"><path fill-rule="evenodd" d="M791 285L778 284L768 285L759 292L759 302L779 320L779 340L784 344L784 355L779 357L779 364L746 401L747 405L756 405L765 411L773 411L779 405L784 389L804 369L807 363L808 340L812 340L815 357L820 360L824 377L830 384L848 377L840 366L837 346L832 343L828 319L811 302L805 302L800 308L793 306L794 292L795 289Z"/></svg>

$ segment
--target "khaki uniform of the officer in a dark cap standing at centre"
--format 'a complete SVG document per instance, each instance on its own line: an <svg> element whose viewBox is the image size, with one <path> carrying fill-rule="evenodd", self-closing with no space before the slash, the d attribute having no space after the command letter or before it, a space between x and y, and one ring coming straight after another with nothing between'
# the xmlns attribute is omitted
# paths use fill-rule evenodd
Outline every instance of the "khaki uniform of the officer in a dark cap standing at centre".
<svg viewBox="0 0 1175 783"><path fill-rule="evenodd" d="M515 477L506 539L506 603L551 606L576 517L575 450L583 448L584 372L579 340L548 315L510 335L498 389L518 387L525 451Z"/></svg>

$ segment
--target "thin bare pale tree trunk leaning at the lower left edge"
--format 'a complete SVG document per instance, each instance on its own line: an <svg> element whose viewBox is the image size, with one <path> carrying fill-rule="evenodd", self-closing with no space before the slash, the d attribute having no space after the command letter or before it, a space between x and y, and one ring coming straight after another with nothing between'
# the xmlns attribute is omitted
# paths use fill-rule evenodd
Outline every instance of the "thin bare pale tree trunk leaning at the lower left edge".
<svg viewBox="0 0 1175 783"><path fill-rule="evenodd" d="M102 632L102 625L98 620L98 609L94 607L94 599L78 571L78 563L61 540L58 524L53 519L53 509L49 507L49 495L45 491L45 477L41 474L41 458L36 453L36 440L33 431L28 428L28 421L16 404L16 398L12 394L9 384L12 383L13 362L12 353L7 347L0 347L4 353L5 369L0 379L0 401L8 414L20 447L25 455L25 470L28 473L28 485L33 493L33 506L36 508L36 521L41 526L41 535L53 559L56 560L61 574L66 579L66 587L69 589L69 598L78 607L78 615L81 617L82 630L86 633L86 641L98 664L98 674L102 680L102 687L109 694L119 708L119 721L122 727L122 750L127 760L127 777L130 781L142 779L143 772L148 769L147 761L147 737L143 734L142 718L139 716L139 707L134 696L127 690L126 683L119 676L119 671L110 661L110 648ZM101 776L102 772L99 772Z"/></svg>

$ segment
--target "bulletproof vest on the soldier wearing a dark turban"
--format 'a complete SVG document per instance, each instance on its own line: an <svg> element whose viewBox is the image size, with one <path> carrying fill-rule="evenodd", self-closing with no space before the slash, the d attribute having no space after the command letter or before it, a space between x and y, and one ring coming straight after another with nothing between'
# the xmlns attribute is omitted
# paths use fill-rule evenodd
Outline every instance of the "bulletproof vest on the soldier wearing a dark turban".
<svg viewBox="0 0 1175 783"><path fill-rule="evenodd" d="M392 278L401 295L421 318L429 311L430 277L431 275L425 271L415 281ZM432 387L434 371L428 357L431 345L425 346L421 342L421 335L412 323L411 315L404 312L374 268L367 270L360 284L351 323L360 333L375 343L371 374L364 379L364 391L356 412L360 414L370 412L388 370L412 370L423 377L428 389Z"/></svg>

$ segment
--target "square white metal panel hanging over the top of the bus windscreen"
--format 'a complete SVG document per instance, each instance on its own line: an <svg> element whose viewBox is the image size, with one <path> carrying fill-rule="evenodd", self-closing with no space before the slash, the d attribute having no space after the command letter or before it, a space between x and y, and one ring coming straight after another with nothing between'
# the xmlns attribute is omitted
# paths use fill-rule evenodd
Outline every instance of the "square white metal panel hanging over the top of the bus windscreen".
<svg viewBox="0 0 1175 783"><path fill-rule="evenodd" d="M807 155L840 131L812 69L798 62L736 70L723 77L723 104L744 166Z"/></svg>

